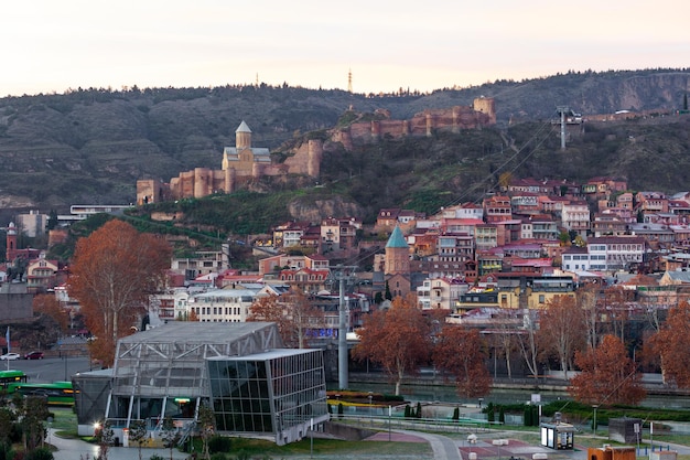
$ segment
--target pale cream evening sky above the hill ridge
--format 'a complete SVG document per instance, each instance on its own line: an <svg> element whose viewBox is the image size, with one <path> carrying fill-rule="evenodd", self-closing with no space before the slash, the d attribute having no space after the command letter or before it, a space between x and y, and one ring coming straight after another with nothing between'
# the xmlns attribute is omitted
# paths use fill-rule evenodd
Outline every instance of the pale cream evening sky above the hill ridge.
<svg viewBox="0 0 690 460"><path fill-rule="evenodd" d="M687 0L4 0L0 96L254 84L431 92L690 67Z"/></svg>

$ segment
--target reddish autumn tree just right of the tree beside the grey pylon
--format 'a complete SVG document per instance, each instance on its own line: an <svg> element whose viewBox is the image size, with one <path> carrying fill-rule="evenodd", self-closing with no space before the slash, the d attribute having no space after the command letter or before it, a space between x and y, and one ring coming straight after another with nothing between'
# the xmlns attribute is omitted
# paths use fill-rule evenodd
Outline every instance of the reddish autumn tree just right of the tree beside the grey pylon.
<svg viewBox="0 0 690 460"><path fill-rule="evenodd" d="M492 377L486 368L486 344L477 329L445 325L436 336L433 362L455 375L457 394L465 398L487 395Z"/></svg>

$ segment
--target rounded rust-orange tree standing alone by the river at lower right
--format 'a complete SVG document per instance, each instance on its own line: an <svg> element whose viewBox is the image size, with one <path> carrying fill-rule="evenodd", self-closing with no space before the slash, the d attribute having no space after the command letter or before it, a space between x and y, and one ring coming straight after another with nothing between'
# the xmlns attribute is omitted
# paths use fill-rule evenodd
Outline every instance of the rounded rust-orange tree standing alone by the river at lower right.
<svg viewBox="0 0 690 460"><path fill-rule="evenodd" d="M581 373L568 392L581 403L635 405L646 396L635 362L615 335L604 335L596 349L576 352L575 364Z"/></svg>

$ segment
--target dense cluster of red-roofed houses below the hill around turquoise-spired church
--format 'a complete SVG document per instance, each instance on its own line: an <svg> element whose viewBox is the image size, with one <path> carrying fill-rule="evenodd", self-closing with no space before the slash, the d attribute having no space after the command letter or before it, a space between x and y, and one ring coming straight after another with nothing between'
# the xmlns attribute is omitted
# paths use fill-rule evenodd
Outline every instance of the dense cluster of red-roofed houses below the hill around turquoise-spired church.
<svg viewBox="0 0 690 460"><path fill-rule="evenodd" d="M150 311L152 321L244 322L258 299L299 291L326 319L319 334L334 338L341 267L351 270L348 331L385 295L413 295L421 310L455 321L477 309L538 311L582 284L617 284L629 272L659 274L654 286L626 289L668 306L690 286L689 218L690 193L632 192L607 178L514 180L481 202L431 215L384 208L370 225L352 216L282 223L247 240L256 271L230 269L226 252L174 259ZM33 282L43 282L42 272L34 269Z"/></svg>

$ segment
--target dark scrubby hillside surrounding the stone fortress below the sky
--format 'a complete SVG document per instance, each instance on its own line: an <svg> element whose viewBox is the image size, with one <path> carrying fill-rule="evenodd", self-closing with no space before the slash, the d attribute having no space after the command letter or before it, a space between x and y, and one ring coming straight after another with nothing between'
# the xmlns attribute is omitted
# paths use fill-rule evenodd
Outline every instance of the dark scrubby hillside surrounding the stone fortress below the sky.
<svg viewBox="0 0 690 460"><path fill-rule="evenodd" d="M76 203L132 202L137 179L168 181L195 167L217 168L223 147L234 143L234 131L242 119L254 131L255 146L278 149L304 132L335 126L351 106L360 113L386 108L392 118L409 118L427 108L471 105L481 95L494 97L497 129L384 141L353 152L336 150L324 161L321 182L338 181L337 193L351 196L367 216L380 204L417 206L419 202L421 207L433 207L445 199L460 199L454 189L466 189L495 172L510 150L505 140L513 139L521 148L557 105L584 115L621 108L673 110L682 104L689 77L686 69L569 73L428 95L375 97L268 86L79 89L8 97L0 99L4 171L0 204L6 210L64 212ZM520 122L508 127L508 120ZM540 146L528 143L520 156L537 151L516 174L575 179L611 173L627 175L635 188L683 188L687 121L683 117L668 121L658 126L627 122L614 131L593 126L580 143L569 146L564 160L553 154L556 137ZM522 161L520 156L515 164ZM373 184L381 190L374 192ZM265 190L272 186L265 184ZM441 186L448 190L439 192Z"/></svg>

